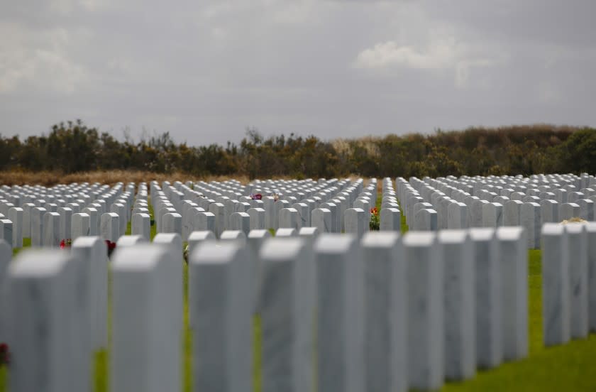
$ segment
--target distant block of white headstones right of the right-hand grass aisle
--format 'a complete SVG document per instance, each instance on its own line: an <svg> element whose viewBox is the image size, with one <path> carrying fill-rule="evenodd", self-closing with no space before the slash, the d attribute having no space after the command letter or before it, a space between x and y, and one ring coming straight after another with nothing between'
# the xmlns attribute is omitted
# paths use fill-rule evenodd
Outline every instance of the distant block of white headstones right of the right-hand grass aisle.
<svg viewBox="0 0 596 392"><path fill-rule="evenodd" d="M534 175L397 178L398 198L415 230L523 226L527 246L540 247L544 223L573 217L594 221L596 178Z"/></svg>

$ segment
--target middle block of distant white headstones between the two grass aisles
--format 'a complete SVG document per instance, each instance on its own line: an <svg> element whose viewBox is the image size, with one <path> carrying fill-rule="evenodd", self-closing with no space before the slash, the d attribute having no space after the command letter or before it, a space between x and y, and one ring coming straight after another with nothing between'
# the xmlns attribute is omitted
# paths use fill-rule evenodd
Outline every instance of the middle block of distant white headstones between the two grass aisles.
<svg viewBox="0 0 596 392"><path fill-rule="evenodd" d="M195 231L211 231L219 238L225 230L248 234L302 227L362 235L376 204L377 182L373 179L364 187L362 179L255 181L246 186L236 181L173 185L154 181L150 192L158 232L175 232L183 241Z"/></svg>

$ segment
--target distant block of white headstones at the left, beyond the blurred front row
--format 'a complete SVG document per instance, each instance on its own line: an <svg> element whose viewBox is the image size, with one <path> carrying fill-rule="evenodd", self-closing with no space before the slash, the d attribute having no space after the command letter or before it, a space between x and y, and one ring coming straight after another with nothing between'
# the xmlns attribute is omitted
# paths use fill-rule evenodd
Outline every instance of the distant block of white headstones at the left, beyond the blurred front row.
<svg viewBox="0 0 596 392"><path fill-rule="evenodd" d="M13 248L23 246L58 246L62 240L79 236L101 235L116 241L134 221L133 234L149 239L150 215L147 185L118 183L114 187L99 184L13 187L0 189L0 239ZM134 204L133 204L134 200ZM16 203L16 204L15 204Z"/></svg>

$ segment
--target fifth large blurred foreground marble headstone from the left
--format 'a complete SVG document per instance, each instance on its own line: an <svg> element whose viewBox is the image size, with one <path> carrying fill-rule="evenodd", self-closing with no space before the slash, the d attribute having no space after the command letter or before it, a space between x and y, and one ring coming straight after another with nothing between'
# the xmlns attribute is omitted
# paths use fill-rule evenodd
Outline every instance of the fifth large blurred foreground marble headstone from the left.
<svg viewBox="0 0 596 392"><path fill-rule="evenodd" d="M358 240L321 234L314 251L316 391L364 391L364 277Z"/></svg>

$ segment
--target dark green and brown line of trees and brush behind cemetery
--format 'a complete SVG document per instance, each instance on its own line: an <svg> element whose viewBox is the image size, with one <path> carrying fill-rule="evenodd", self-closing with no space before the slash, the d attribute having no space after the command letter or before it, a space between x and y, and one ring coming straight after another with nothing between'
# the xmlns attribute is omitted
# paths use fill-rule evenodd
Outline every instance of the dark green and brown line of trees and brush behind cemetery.
<svg viewBox="0 0 596 392"><path fill-rule="evenodd" d="M145 170L251 179L596 173L596 129L538 124L332 141L264 137L247 129L239 144L188 146L168 133L118 141L77 120L23 141L0 134L0 170Z"/></svg>

